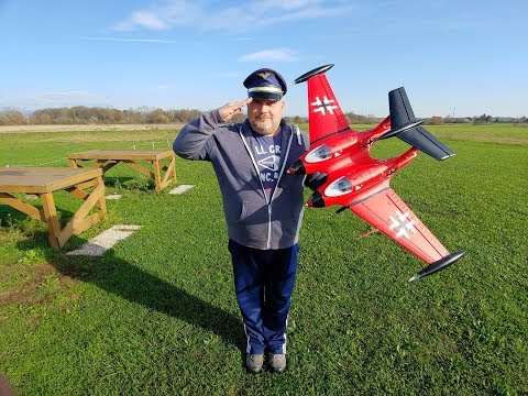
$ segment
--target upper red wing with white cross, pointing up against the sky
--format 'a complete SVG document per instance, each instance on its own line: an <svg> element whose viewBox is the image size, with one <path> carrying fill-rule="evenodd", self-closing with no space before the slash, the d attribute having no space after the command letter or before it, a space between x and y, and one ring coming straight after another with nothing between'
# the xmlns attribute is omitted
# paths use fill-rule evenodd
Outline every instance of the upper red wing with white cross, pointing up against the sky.
<svg viewBox="0 0 528 396"><path fill-rule="evenodd" d="M346 118L323 74L332 66L318 67L295 80L296 84L308 81L310 144L321 138L350 129Z"/></svg>

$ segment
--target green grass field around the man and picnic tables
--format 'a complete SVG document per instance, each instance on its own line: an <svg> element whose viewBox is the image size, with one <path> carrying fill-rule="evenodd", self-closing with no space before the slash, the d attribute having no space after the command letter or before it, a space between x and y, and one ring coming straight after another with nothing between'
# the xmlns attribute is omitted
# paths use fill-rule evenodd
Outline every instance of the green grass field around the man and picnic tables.
<svg viewBox="0 0 528 396"><path fill-rule="evenodd" d="M108 220L53 252L46 228L0 204L0 373L20 395L526 395L528 129L428 127L457 152L421 154L394 189L455 265L422 263L337 208L307 209L287 372L246 374L221 199L207 163L177 160L180 196L125 166ZM67 166L70 152L156 148L177 131L0 134L0 166ZM167 143L168 142L168 143ZM406 145L380 142L377 157ZM306 191L309 196L309 191ZM59 215L74 201L58 195ZM141 224L100 258L69 257L113 224Z"/></svg>

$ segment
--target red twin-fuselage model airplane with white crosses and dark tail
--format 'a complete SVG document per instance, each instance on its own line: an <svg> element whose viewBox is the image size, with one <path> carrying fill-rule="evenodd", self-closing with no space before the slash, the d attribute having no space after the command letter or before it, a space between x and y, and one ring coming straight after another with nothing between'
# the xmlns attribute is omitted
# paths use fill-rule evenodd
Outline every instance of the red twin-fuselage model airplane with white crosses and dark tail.
<svg viewBox="0 0 528 396"><path fill-rule="evenodd" d="M305 185L315 190L308 206L341 205L338 212L349 208L429 264L409 282L454 263L465 251L449 253L389 186L394 173L409 164L418 151L436 160L454 153L420 127L425 120L415 118L403 87L388 92L389 117L370 131L353 131L324 76L332 66L318 67L295 80L308 81L311 142L309 151L288 172L307 175ZM394 158L372 158L371 146L391 136L413 147Z"/></svg>

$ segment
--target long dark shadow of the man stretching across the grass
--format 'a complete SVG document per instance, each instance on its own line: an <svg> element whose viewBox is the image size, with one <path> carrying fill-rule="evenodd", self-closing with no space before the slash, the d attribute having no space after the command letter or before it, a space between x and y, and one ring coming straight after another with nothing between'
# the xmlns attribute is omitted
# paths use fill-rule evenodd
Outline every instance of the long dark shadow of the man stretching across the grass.
<svg viewBox="0 0 528 396"><path fill-rule="evenodd" d="M44 248L47 234L40 237L44 240L35 241L33 238L19 242L18 248L21 250ZM102 257L69 257L63 251L54 252L48 246L44 248L44 251L47 262L65 276L90 283L131 302L211 331L242 352L245 349L242 321L238 316L117 257L112 250Z"/></svg>

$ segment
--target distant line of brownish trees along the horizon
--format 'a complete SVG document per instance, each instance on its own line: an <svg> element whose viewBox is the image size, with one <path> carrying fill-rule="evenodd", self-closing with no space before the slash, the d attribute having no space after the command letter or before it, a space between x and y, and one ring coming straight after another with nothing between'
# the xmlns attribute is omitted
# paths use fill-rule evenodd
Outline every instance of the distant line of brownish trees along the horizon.
<svg viewBox="0 0 528 396"><path fill-rule="evenodd" d="M200 116L198 109L154 109L146 106L138 109L119 110L112 108L75 106L70 108L48 108L36 110L32 113L23 113L19 110L0 110L0 125L69 125L69 124L168 124L187 123ZM382 119L374 116L362 116L354 112L345 112L344 117L351 124L373 124ZM238 114L233 118L234 122L241 122L245 119L244 114ZM304 123L306 117L285 117L286 121L293 123ZM482 114L472 118L451 118L433 117L427 123L455 123L455 122L524 122L526 117L520 119L497 118L490 114Z"/></svg>

